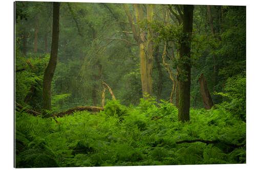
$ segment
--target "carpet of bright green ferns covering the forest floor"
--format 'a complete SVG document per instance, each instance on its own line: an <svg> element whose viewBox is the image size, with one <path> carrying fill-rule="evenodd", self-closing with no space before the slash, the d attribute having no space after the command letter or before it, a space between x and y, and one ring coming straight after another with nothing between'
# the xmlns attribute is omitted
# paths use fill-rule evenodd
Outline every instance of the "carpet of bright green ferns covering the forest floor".
<svg viewBox="0 0 256 170"><path fill-rule="evenodd" d="M56 118L15 114L16 167L246 163L246 123L222 106L190 110L190 121L162 101L137 107L109 101L95 114ZM180 143L203 139L218 141Z"/></svg>

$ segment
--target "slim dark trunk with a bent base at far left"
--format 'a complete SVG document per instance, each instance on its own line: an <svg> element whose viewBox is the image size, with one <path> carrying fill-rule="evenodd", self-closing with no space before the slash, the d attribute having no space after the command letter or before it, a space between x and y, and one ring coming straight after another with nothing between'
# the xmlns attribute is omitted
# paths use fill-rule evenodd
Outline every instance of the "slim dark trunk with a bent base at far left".
<svg viewBox="0 0 256 170"><path fill-rule="evenodd" d="M53 29L52 29L52 47L50 61L46 67L44 80L42 83L42 108L51 110L51 83L57 64L58 43L59 43L59 5L53 3Z"/></svg>

